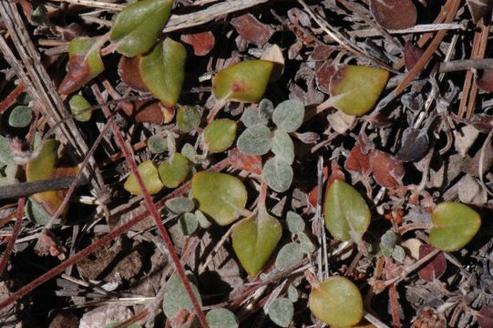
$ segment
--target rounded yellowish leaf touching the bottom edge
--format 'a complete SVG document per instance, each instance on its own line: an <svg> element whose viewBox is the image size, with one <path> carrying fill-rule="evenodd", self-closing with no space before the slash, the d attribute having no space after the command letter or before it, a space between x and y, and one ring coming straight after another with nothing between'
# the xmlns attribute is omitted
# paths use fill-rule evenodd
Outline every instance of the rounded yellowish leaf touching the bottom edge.
<svg viewBox="0 0 493 328"><path fill-rule="evenodd" d="M363 317L363 298L356 285L344 277L330 277L320 282L308 298L313 315L331 326L350 327Z"/></svg>

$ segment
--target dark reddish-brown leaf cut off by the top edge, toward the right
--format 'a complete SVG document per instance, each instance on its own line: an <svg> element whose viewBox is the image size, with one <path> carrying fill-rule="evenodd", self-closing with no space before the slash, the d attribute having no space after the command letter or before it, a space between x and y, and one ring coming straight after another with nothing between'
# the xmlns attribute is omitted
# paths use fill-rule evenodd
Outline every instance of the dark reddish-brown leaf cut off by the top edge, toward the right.
<svg viewBox="0 0 493 328"><path fill-rule="evenodd" d="M370 12L376 23L387 29L416 25L417 11L412 0L370 0Z"/></svg>

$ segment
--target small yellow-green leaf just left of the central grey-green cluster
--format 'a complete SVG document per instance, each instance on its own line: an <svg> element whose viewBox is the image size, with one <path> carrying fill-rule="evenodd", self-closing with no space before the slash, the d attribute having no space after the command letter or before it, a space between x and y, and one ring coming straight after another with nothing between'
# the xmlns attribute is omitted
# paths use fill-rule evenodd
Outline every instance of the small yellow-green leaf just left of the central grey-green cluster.
<svg viewBox="0 0 493 328"><path fill-rule="evenodd" d="M236 122L229 118L212 121L204 128L204 141L211 152L229 149L236 138Z"/></svg>

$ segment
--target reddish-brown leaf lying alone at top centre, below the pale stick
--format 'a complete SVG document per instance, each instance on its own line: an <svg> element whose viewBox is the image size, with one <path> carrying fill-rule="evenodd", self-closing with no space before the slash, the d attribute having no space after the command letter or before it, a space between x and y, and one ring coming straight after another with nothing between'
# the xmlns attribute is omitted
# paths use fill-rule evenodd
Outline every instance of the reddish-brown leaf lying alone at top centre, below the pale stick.
<svg viewBox="0 0 493 328"><path fill-rule="evenodd" d="M234 17L231 19L231 25L242 38L257 46L267 43L274 32L251 14Z"/></svg>

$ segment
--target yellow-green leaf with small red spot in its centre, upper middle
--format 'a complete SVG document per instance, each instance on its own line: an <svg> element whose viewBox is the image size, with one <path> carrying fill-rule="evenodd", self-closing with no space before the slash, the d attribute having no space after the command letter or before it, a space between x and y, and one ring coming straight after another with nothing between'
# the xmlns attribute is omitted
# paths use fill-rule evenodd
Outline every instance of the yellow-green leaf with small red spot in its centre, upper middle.
<svg viewBox="0 0 493 328"><path fill-rule="evenodd" d="M269 79L274 63L255 59L245 60L222 69L212 80L212 92L217 99L257 102Z"/></svg>

